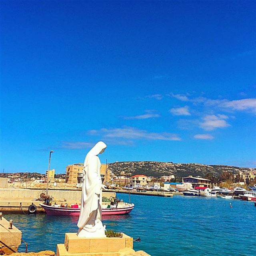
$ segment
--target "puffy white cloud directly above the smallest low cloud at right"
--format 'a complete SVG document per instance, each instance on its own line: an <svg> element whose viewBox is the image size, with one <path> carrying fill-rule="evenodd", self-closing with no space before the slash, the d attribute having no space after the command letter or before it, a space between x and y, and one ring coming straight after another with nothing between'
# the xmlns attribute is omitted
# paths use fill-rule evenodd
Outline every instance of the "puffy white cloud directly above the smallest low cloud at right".
<svg viewBox="0 0 256 256"><path fill-rule="evenodd" d="M212 131L217 128L225 128L230 126L224 119L226 119L227 116L225 115L206 115L203 118L203 122L200 122L199 126L203 128L206 131Z"/></svg>

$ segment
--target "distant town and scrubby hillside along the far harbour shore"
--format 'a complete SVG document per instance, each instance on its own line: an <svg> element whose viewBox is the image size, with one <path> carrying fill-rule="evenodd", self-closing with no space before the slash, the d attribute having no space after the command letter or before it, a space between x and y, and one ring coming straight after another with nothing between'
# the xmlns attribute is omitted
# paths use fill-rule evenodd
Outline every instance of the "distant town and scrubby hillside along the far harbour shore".
<svg viewBox="0 0 256 256"><path fill-rule="evenodd" d="M121 162L124 163L124 162ZM125 162L127 163L127 162ZM100 168L100 173L102 177L102 183L110 186L110 188L125 188L125 187L150 187L158 186L159 188L168 189L170 186L176 187L177 184L182 184L189 182L193 187L208 187L213 186L250 186L256 184L256 169L255 168L244 168L245 170L237 169L237 167L227 167L222 166L222 170L217 173L212 169L211 172L206 172L204 165L194 164L194 170L190 168L190 173L186 170L183 177L176 174L175 172L168 173L168 175L162 175L159 177L159 171L156 172L158 176L149 176L148 173L152 174L152 170L136 170L136 164L140 166L142 163L150 164L152 162L131 162L133 163L133 168L130 172L127 168L125 170L120 170L120 168L115 169L114 167L120 163L114 164L102 164ZM135 163L135 164L134 164ZM157 162L159 164L159 162ZM161 163L172 164L173 163ZM182 164L176 164L182 165ZM183 164L188 165L188 164ZM193 165L193 164L189 164ZM198 175L198 165L203 168L201 175ZM152 168L154 169L154 168ZM166 172L166 170L164 170ZM195 173L197 175L195 175ZM8 186L16 188L44 188L45 183L48 182L50 187L58 188L68 188L77 189L82 188L82 178L83 178L83 164L70 164L66 166L65 174L55 174L55 170L46 170L45 174L40 174L37 172L16 172L16 173L0 173L0 177L8 178Z"/></svg>

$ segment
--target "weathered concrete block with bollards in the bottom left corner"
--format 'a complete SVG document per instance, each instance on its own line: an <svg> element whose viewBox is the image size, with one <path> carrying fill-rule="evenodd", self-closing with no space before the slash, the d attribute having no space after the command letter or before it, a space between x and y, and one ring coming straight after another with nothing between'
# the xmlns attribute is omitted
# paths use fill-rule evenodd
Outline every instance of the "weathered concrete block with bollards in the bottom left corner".
<svg viewBox="0 0 256 256"><path fill-rule="evenodd" d="M9 229L8 220L2 217L0 220L0 251L5 253L17 252L20 244L21 231L14 225L12 225L12 229Z"/></svg>

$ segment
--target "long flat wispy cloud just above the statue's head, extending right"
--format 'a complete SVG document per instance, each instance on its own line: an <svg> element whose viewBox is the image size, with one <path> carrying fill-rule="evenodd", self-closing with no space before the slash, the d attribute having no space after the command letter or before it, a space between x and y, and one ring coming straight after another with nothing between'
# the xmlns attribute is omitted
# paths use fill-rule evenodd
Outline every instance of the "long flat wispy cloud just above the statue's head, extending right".
<svg viewBox="0 0 256 256"><path fill-rule="evenodd" d="M126 138L126 139L147 139L147 140L181 140L177 134L168 132L148 132L133 127L113 128L89 131L89 134L101 135L104 138Z"/></svg>

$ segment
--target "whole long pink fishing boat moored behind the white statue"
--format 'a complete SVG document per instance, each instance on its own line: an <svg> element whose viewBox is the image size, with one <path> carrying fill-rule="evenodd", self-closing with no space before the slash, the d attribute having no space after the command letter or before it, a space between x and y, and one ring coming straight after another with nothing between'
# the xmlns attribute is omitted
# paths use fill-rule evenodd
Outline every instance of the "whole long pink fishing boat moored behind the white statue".
<svg viewBox="0 0 256 256"><path fill-rule="evenodd" d="M80 208L77 204L71 205L71 207L60 207L60 205L46 205L40 204L48 215L62 215L62 216L79 216ZM72 207L75 206L75 207ZM103 204L102 215L117 215L128 214L134 208L134 204L128 204L125 202L119 202L117 205Z"/></svg>

